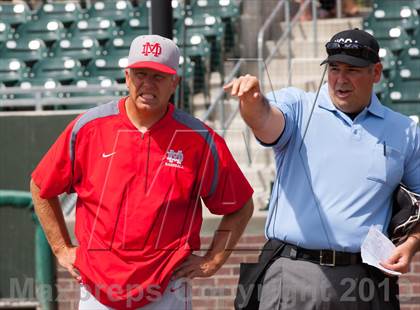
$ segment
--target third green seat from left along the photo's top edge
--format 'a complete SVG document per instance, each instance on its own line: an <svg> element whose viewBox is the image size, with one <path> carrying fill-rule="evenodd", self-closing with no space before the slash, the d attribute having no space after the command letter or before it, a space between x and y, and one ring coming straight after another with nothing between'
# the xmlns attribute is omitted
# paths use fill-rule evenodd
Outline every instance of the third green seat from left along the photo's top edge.
<svg viewBox="0 0 420 310"><path fill-rule="evenodd" d="M88 15L93 17L101 17L113 20L115 22L122 22L126 18L134 15L133 6L130 1L95 1L88 9Z"/></svg>

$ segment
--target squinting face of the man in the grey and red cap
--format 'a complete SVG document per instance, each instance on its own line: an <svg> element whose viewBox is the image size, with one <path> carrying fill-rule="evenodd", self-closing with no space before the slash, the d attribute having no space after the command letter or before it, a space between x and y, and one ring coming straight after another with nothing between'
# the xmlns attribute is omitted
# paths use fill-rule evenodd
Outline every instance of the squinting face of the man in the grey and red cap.
<svg viewBox="0 0 420 310"><path fill-rule="evenodd" d="M177 76L145 68L128 69L125 78L130 100L145 112L166 111L179 81Z"/></svg>

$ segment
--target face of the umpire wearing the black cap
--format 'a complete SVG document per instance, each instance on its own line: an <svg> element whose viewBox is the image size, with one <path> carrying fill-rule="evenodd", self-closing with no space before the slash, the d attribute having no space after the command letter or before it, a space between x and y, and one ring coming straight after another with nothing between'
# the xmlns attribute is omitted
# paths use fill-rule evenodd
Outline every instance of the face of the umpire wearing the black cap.
<svg viewBox="0 0 420 310"><path fill-rule="evenodd" d="M381 79L380 63L355 67L342 62L328 65L328 91L334 105L345 113L360 112L369 105L373 84Z"/></svg>

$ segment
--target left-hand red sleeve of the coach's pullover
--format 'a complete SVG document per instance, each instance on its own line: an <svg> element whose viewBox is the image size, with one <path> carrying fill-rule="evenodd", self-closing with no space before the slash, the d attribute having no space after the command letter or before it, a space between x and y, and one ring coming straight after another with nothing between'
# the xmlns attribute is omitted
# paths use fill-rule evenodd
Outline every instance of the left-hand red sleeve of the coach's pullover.
<svg viewBox="0 0 420 310"><path fill-rule="evenodd" d="M40 188L41 198L49 199L72 191L71 139L76 120L60 134L32 172L32 179Z"/></svg>

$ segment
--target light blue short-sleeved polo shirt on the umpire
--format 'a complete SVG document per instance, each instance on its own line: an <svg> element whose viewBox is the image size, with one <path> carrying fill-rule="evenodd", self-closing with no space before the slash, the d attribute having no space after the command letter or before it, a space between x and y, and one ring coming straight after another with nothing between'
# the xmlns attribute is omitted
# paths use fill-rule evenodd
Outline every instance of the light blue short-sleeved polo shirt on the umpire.
<svg viewBox="0 0 420 310"><path fill-rule="evenodd" d="M420 127L375 94L351 120L321 88L286 88L267 96L286 127L273 146L277 176L266 236L308 249L358 252L371 225L385 232L391 197L402 181L420 193Z"/></svg>

